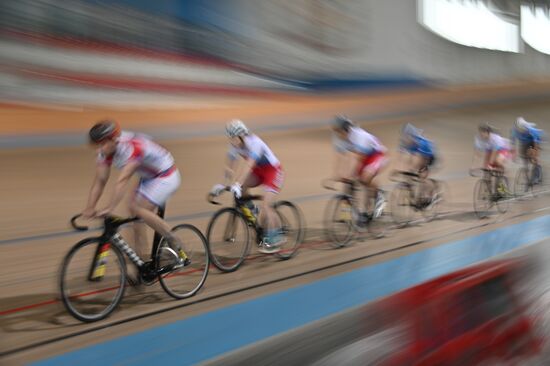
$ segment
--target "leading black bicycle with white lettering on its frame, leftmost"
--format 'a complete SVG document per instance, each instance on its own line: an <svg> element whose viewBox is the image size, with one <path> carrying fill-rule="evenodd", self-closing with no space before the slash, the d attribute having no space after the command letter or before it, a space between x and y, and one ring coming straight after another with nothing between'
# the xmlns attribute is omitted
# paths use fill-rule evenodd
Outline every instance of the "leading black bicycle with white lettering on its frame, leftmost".
<svg viewBox="0 0 550 366"><path fill-rule="evenodd" d="M158 210L164 217L164 208ZM86 231L73 216L71 226ZM158 280L164 291L175 299L195 295L208 275L209 257L206 239L193 225L181 224L172 229L184 248L172 248L155 232L151 258L145 262L118 233L122 225L139 220L105 216L103 233L76 243L65 256L60 271L61 299L67 311L83 322L106 318L119 305L127 282L130 285L151 285ZM126 270L124 254L136 266L137 279ZM114 260L108 262L109 257Z"/></svg>

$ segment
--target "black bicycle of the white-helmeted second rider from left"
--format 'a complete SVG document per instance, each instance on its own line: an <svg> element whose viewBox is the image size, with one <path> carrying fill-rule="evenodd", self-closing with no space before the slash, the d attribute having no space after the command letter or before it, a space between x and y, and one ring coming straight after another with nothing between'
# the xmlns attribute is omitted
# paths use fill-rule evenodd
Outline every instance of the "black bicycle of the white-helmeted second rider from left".
<svg viewBox="0 0 550 366"><path fill-rule="evenodd" d="M225 191L229 191L226 187ZM208 202L214 205L220 203L214 200L216 196L209 194ZM250 254L252 241L250 231L256 235L255 243L263 245L264 229L258 222L258 212L253 212L251 203L262 200L260 195L234 197L232 207L224 207L217 211L207 229L207 243L210 260L222 272L236 271ZM303 220L300 210L289 201L278 201L274 209L281 220L281 235L283 244L279 252L274 253L279 259L290 259L304 238ZM220 230L215 230L221 228Z"/></svg>

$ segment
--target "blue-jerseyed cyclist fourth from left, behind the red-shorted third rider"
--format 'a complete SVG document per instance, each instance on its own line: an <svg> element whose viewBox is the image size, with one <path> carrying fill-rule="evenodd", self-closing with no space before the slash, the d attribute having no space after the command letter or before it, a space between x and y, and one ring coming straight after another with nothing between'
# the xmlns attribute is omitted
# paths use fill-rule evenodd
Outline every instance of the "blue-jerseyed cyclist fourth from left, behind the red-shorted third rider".
<svg viewBox="0 0 550 366"><path fill-rule="evenodd" d="M423 182L432 182L427 180L430 169L436 162L435 145L432 141L424 137L423 131L410 123L405 124L401 129L401 139L399 143L401 151L401 161L407 166L407 170L418 174ZM420 197L430 202L435 198L435 187L432 185L422 185L426 187L425 192L419 192ZM421 186L421 187L422 187Z"/></svg>

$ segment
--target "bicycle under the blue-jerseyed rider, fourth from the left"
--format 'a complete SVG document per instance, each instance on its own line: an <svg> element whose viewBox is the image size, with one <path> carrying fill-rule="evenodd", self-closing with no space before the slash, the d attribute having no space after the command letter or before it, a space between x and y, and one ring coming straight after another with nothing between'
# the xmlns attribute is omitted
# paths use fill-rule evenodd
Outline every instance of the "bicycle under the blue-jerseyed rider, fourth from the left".
<svg viewBox="0 0 550 366"><path fill-rule="evenodd" d="M418 173L403 170L392 172L390 180L397 182L390 196L390 207L398 226L408 225L415 212L420 212L426 221L437 217L443 201L442 182L433 178L421 179Z"/></svg>

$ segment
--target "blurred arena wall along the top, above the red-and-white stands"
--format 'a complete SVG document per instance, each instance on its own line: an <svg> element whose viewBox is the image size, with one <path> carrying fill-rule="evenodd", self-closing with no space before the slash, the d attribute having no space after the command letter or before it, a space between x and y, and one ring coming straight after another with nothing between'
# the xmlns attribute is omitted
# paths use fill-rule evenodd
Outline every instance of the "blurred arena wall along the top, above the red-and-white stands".
<svg viewBox="0 0 550 366"><path fill-rule="evenodd" d="M518 52L480 49L421 24L424 3L445 1L458 0L2 0L0 28L4 36L34 34L221 60L304 85L470 84L550 75L550 56L521 38ZM519 0L461 3L468 2L519 27Z"/></svg>

